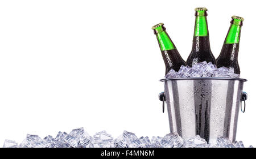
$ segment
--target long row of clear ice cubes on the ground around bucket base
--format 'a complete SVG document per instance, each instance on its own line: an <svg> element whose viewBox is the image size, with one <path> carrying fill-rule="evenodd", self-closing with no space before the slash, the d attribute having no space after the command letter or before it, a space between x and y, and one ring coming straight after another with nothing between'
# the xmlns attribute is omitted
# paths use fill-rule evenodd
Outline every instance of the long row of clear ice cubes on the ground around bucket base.
<svg viewBox="0 0 256 159"><path fill-rule="evenodd" d="M5 140L4 148L244 148L242 141L232 143L224 137L218 137L216 144L207 144L199 135L183 140L176 132L164 137L137 137L134 133L123 131L117 139L106 133L97 132L93 137L84 128L72 130L69 134L59 132L54 138L46 136L41 139L38 135L27 135L22 143ZM252 148L252 146L250 146Z"/></svg>

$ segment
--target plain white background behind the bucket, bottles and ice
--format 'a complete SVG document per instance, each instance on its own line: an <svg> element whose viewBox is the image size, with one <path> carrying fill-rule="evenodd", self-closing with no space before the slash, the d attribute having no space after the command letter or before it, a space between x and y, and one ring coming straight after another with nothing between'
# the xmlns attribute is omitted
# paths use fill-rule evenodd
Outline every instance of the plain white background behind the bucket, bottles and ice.
<svg viewBox="0 0 256 159"><path fill-rule="evenodd" d="M84 127L93 135L123 130L164 136L164 63L152 25L164 23L186 60L195 7L208 8L217 58L232 15L245 18L241 77L246 112L237 140L256 146L255 13L253 1L0 1L0 147L26 134L56 136Z"/></svg>

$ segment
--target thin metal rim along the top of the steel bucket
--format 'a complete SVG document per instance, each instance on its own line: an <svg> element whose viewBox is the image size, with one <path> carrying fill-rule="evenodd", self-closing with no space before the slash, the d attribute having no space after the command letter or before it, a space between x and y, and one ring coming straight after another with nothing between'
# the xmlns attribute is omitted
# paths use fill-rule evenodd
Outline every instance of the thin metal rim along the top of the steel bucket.
<svg viewBox="0 0 256 159"><path fill-rule="evenodd" d="M167 79L160 79L159 81L168 81L168 80L240 80L240 81L247 81L247 79L241 79L241 78L167 78Z"/></svg>

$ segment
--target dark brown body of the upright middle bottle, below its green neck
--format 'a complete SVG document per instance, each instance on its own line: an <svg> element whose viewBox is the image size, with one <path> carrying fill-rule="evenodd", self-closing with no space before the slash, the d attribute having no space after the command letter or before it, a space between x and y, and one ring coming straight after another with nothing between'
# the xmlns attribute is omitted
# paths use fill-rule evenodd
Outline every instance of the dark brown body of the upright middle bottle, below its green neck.
<svg viewBox="0 0 256 159"><path fill-rule="evenodd" d="M192 51L188 56L187 65L192 67L199 62L212 62L216 65L216 59L210 50L209 36L194 36Z"/></svg>

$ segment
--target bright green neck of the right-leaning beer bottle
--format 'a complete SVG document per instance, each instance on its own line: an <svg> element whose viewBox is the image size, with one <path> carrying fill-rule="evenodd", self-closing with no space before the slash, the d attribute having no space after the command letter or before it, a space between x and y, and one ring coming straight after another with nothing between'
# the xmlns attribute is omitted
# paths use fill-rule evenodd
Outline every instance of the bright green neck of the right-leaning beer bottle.
<svg viewBox="0 0 256 159"><path fill-rule="evenodd" d="M238 44L240 41L242 23L240 19L233 19L229 27L228 35L225 39L225 44Z"/></svg>

